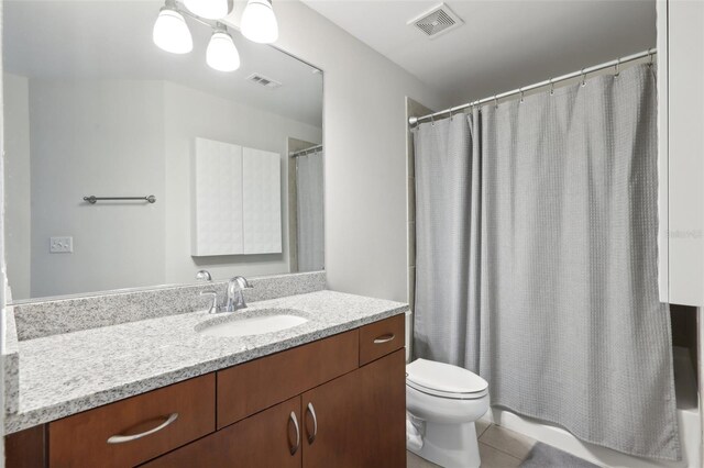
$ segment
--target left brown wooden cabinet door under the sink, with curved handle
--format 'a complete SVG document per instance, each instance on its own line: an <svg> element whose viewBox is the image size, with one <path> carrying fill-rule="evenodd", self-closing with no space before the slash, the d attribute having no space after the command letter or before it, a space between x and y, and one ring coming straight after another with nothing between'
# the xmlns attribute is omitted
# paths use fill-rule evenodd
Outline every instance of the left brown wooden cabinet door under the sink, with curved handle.
<svg viewBox="0 0 704 468"><path fill-rule="evenodd" d="M287 400L143 467L277 467L301 464L300 397Z"/></svg>

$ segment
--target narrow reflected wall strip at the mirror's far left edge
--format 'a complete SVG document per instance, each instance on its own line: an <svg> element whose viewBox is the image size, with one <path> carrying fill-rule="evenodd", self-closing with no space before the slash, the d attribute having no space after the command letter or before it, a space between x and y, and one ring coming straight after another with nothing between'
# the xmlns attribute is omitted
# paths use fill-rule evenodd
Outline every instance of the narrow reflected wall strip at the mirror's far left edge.
<svg viewBox="0 0 704 468"><path fill-rule="evenodd" d="M8 243L12 248L6 258L12 290L18 298L30 296L30 83L26 78L4 76L4 110L12 119L4 129L4 181L10 203L6 207Z"/></svg>

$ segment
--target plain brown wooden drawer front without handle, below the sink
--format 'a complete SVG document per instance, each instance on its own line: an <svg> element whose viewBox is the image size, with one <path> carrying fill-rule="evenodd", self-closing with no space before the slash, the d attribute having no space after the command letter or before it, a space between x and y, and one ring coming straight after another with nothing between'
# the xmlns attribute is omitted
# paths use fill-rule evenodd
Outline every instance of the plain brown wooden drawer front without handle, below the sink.
<svg viewBox="0 0 704 468"><path fill-rule="evenodd" d="M218 428L358 368L359 330L218 371Z"/></svg>

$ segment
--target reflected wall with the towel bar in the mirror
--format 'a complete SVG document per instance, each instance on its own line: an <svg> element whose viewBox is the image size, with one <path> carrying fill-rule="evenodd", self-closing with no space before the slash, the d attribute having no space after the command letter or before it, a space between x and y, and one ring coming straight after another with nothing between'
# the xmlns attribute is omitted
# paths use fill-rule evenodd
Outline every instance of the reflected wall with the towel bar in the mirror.
<svg viewBox="0 0 704 468"><path fill-rule="evenodd" d="M160 81L30 80L32 297L164 277L162 89ZM157 203L82 201L91 194L155 194ZM50 254L51 236L73 236L74 253Z"/></svg>

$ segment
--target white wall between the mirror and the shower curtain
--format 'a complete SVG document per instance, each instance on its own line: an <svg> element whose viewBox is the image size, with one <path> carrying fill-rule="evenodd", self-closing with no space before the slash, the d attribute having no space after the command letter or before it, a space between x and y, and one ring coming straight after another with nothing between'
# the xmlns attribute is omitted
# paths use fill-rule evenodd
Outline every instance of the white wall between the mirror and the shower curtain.
<svg viewBox="0 0 704 468"><path fill-rule="evenodd" d="M406 301L405 97L450 102L299 1L274 8L276 46L324 71L329 287Z"/></svg>

